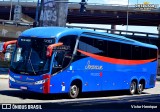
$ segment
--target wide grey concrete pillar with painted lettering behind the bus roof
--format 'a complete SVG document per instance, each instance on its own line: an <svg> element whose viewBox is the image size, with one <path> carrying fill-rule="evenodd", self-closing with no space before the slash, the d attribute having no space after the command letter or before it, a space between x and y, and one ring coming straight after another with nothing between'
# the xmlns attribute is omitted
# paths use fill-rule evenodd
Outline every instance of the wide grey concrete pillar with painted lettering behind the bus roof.
<svg viewBox="0 0 160 112"><path fill-rule="evenodd" d="M66 26L68 0L41 0L40 26Z"/></svg>

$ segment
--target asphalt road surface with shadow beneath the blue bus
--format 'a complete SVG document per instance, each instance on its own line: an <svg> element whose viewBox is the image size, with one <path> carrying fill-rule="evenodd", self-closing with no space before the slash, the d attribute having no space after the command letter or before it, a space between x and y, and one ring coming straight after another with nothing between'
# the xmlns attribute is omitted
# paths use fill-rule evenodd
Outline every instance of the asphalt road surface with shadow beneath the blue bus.
<svg viewBox="0 0 160 112"><path fill-rule="evenodd" d="M141 95L129 95L128 91L101 91L83 93L80 98L70 99L68 94L40 94L9 88L8 79L3 79L0 81L0 112L8 107L6 105L16 112L22 112L25 106L27 112L34 111L29 108L31 105L40 105L42 109L38 112L160 112L159 87L157 81L154 88L145 89Z"/></svg>

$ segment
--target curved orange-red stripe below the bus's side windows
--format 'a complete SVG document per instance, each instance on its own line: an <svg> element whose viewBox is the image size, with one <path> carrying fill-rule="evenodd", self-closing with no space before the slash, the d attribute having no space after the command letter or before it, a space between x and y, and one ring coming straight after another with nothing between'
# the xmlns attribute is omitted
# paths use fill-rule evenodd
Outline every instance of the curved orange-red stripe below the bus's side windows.
<svg viewBox="0 0 160 112"><path fill-rule="evenodd" d="M152 61L156 60L156 58L147 59L147 60L116 59L116 58L104 57L104 56L88 53L88 52L85 52L82 50L77 50L77 51L86 55L86 56L92 57L94 59L97 59L97 60L100 60L103 62L108 62L108 63L112 63L112 64L120 64L120 65L138 65L138 64L145 64L145 63L152 62Z"/></svg>

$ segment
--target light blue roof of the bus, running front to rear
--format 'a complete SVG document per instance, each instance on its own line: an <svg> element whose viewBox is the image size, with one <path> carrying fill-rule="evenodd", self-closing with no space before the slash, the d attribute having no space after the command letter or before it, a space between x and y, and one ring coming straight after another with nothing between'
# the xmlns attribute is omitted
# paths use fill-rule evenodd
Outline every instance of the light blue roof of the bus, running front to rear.
<svg viewBox="0 0 160 112"><path fill-rule="evenodd" d="M92 30L84 30L84 29L77 29L77 28L65 28L65 27L36 27L31 28L28 30L25 30L22 32L20 36L25 37L38 37L38 38L54 38L56 37L59 39L62 36L66 35L84 35L84 36L92 36L92 37L98 37L104 40L111 40L111 41L117 41L121 43L126 44L133 44L133 45L139 45L144 47L150 47L154 49L158 49L157 46L142 43L133 39L126 38L124 36L115 35L115 34L109 34L109 33L103 33L103 32L97 32Z"/></svg>

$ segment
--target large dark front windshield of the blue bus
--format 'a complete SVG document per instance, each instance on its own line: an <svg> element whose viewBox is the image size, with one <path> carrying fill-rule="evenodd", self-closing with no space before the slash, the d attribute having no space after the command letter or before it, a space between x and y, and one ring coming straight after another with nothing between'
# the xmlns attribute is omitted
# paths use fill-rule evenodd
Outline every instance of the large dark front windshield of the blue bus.
<svg viewBox="0 0 160 112"><path fill-rule="evenodd" d="M15 73L30 75L49 72L51 58L46 57L46 50L53 43L53 38L19 38L10 69Z"/></svg>

